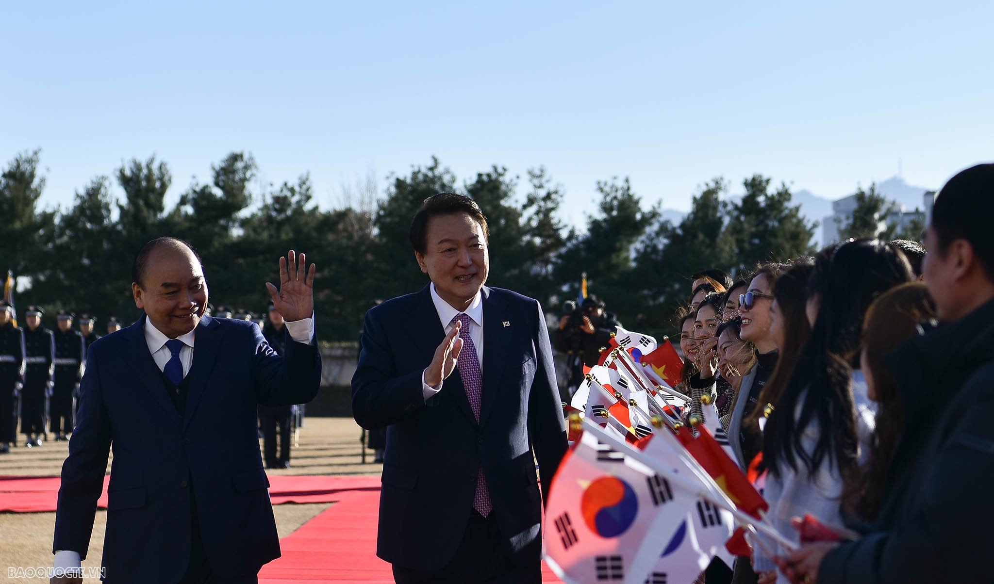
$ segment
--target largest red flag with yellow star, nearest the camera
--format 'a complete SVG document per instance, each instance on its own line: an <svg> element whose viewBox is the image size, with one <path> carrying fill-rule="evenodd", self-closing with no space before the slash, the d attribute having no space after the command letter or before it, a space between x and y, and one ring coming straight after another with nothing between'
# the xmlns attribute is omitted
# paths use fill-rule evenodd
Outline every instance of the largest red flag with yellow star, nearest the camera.
<svg viewBox="0 0 994 584"><path fill-rule="evenodd" d="M689 426L682 426L677 432L677 438L683 443L687 452L711 475L722 491L736 504L740 510L759 518L759 511L766 511L762 496L749 484L748 479L736 461L729 458L725 449L715 440L704 424L696 428L697 438L694 438Z"/></svg>

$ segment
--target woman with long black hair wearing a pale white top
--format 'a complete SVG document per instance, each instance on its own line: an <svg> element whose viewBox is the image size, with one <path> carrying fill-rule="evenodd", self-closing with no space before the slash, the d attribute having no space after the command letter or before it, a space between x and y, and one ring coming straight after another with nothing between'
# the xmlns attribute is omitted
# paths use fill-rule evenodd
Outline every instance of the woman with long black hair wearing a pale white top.
<svg viewBox="0 0 994 584"><path fill-rule="evenodd" d="M820 253L808 282L811 334L766 420L762 459L768 470L767 517L781 533L796 536L791 517L810 513L825 525L842 525L843 478L857 470L861 436L872 415L865 385L853 383L859 368L863 317L880 294L911 281L908 261L876 239L850 240ZM789 345L794 340L786 339ZM784 365L788 365L784 362ZM777 387L770 391L777 391ZM763 538L770 550L783 550ZM763 546L753 547L760 583L786 584Z"/></svg>

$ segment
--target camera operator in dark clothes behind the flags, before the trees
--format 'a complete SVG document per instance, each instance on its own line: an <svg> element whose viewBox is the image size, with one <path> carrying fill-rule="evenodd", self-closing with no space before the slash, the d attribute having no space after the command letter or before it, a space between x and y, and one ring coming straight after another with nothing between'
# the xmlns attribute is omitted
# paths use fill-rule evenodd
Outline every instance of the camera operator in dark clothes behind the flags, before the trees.
<svg viewBox="0 0 994 584"><path fill-rule="evenodd" d="M611 333L616 332L617 318L604 312L604 303L594 295L587 296L580 307L568 300L563 303L566 316L560 319L553 345L566 353L570 365L570 391L583 380L583 365L597 365L600 348L607 347Z"/></svg>

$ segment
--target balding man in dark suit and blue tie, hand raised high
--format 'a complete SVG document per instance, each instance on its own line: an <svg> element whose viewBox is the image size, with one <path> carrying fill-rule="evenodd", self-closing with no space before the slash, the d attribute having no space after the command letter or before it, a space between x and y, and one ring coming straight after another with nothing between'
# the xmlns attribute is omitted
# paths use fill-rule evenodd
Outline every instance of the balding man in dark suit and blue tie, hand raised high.
<svg viewBox="0 0 994 584"><path fill-rule="evenodd" d="M204 315L207 282L185 241L160 237L138 252L131 286L144 316L89 348L59 491L54 581L81 581L57 578L85 557L111 446L105 582L256 582L279 556L255 410L317 393L315 268L306 266L290 251L279 289L266 284L288 321L280 357L253 323Z"/></svg>

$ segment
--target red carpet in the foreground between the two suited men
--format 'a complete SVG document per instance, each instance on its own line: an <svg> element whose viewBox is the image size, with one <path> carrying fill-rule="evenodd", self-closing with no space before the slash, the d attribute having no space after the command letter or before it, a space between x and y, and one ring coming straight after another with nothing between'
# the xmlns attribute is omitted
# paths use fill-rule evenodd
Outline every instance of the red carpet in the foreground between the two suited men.
<svg viewBox="0 0 994 584"><path fill-rule="evenodd" d="M393 584L390 564L376 556L379 507L379 489L342 493L338 503L279 541L283 555L262 567L259 584ZM542 581L562 582L545 564Z"/></svg>

